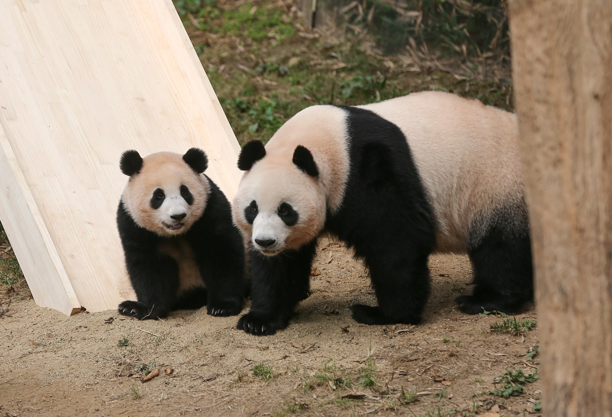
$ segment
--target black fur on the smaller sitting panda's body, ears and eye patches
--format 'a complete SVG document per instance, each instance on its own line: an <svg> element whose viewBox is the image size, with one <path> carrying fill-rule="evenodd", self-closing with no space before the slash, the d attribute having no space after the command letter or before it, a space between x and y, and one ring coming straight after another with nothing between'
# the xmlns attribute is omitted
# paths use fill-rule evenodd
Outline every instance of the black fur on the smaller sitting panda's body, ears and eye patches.
<svg viewBox="0 0 612 417"><path fill-rule="evenodd" d="M146 159L146 158L145 158ZM179 309L198 309L207 306L212 316L233 316L242 309L247 294L245 281L244 243L231 219L230 203L223 192L206 175L206 155L190 149L182 160L202 175L209 188L203 214L189 229L176 236L163 236L138 225L124 204L119 201L117 226L125 254L125 265L138 301L124 301L119 312L137 319L158 319ZM122 155L121 169L126 175L142 174L143 160L136 151ZM130 186L130 185L128 185ZM193 204L193 196L184 196ZM150 210L155 210L151 201ZM179 291L178 260L160 251L160 245L176 245L178 239L188 245L193 260L200 270L200 285ZM181 246L177 246L181 248Z"/></svg>

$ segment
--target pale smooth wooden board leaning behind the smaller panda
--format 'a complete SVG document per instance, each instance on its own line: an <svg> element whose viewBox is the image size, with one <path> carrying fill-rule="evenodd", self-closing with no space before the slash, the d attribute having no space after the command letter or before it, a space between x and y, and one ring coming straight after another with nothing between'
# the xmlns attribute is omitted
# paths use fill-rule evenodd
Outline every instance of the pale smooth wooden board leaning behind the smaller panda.
<svg viewBox="0 0 612 417"><path fill-rule="evenodd" d="M0 2L0 221L34 300L132 298L115 225L126 149L204 149L232 198L239 144L170 0Z"/></svg>

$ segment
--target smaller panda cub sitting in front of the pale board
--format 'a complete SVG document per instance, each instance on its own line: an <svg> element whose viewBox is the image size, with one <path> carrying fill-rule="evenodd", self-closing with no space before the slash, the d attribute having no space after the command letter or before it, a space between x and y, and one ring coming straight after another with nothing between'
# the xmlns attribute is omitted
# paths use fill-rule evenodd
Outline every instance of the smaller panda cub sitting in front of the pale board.
<svg viewBox="0 0 612 417"><path fill-rule="evenodd" d="M233 316L245 295L245 250L230 202L203 172L203 150L121 156L129 181L119 201L117 226L125 265L138 301L119 313L161 319L177 309L207 306L212 316Z"/></svg>

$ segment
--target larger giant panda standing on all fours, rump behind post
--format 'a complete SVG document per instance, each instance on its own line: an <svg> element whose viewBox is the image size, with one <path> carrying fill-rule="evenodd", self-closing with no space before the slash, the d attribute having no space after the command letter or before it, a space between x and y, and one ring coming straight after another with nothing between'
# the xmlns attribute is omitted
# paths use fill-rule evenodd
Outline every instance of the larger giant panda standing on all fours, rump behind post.
<svg viewBox="0 0 612 417"><path fill-rule="evenodd" d="M317 238L329 232L370 270L369 325L419 323L431 253L467 253L468 314L532 299L532 262L515 115L444 92L362 106L310 106L264 147L245 144L234 223L250 242L252 306L237 327L285 328L308 296Z"/></svg>

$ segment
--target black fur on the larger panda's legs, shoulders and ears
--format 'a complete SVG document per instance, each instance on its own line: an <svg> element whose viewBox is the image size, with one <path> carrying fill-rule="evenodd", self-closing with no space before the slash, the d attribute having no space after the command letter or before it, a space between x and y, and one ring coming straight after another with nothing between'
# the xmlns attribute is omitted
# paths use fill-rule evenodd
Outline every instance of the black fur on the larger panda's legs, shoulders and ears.
<svg viewBox="0 0 612 417"><path fill-rule="evenodd" d="M354 304L353 318L370 325L419 323L430 293L427 260L436 249L438 221L409 141L397 125L369 109L337 107L346 112L350 164L340 208L327 210L324 229L364 259L378 299L378 306ZM316 180L316 163L308 155L296 148L293 163ZM248 171L265 157L261 142L250 142L240 168ZM234 221L239 210L234 208ZM460 309L468 314L517 311L533 296L524 201L509 202L474 222L482 223L473 225L477 232L467 242L476 289L457 299ZM288 325L297 303L308 295L316 241L274 256L252 249L252 306L238 328L264 335Z"/></svg>

